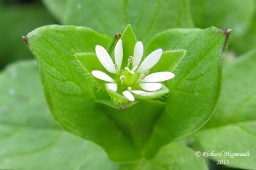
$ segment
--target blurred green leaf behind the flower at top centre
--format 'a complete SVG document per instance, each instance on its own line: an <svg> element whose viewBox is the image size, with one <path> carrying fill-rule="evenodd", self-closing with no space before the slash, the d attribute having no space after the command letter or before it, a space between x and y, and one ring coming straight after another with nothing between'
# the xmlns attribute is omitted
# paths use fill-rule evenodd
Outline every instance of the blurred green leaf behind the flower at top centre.
<svg viewBox="0 0 256 170"><path fill-rule="evenodd" d="M132 24L140 41L172 27L193 27L188 0L44 1L58 18L59 6L66 6L61 8L62 24L83 25L110 37L123 32L127 24Z"/></svg>

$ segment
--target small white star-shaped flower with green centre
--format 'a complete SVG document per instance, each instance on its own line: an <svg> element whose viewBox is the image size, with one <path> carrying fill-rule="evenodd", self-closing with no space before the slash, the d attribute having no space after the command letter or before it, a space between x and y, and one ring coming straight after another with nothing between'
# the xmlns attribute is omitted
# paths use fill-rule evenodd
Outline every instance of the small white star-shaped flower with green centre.
<svg viewBox="0 0 256 170"><path fill-rule="evenodd" d="M119 93L122 93L129 101L135 101L134 95L132 94L145 95L160 90L163 87L163 84L160 83L161 81L170 80L175 76L175 74L169 71L148 74L150 69L160 60L163 50L161 48L155 50L141 62L143 57L143 44L141 41L138 41L134 46L133 57L129 57L128 64L124 69L122 69L122 39L119 39L115 46L115 64L104 47L96 45L95 52L102 66L109 73L113 73L116 76L112 78L99 70L93 70L92 75L95 78L107 81L106 88L108 90L118 92L118 89L121 89L122 91ZM130 69L131 64L132 69Z"/></svg>

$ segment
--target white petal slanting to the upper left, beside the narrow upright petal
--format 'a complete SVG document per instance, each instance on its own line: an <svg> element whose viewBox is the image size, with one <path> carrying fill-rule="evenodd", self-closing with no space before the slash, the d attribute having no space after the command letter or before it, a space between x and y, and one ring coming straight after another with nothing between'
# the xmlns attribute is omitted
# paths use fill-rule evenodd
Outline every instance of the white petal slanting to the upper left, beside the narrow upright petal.
<svg viewBox="0 0 256 170"><path fill-rule="evenodd" d="M96 45L95 52L102 66L104 66L106 70L108 70L110 73L115 74L116 73L115 65L113 63L113 60L109 56L107 50L105 50L103 46Z"/></svg>

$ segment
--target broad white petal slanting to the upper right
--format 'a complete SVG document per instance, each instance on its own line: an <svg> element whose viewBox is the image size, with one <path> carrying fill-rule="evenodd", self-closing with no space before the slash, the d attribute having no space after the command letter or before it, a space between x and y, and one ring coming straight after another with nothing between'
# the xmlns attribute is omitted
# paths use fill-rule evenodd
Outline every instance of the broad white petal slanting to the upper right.
<svg viewBox="0 0 256 170"><path fill-rule="evenodd" d="M154 52L150 53L146 59L140 64L137 73L143 73L147 69L151 69L153 66L157 64L159 59L163 54L163 50L161 48L154 50Z"/></svg>

